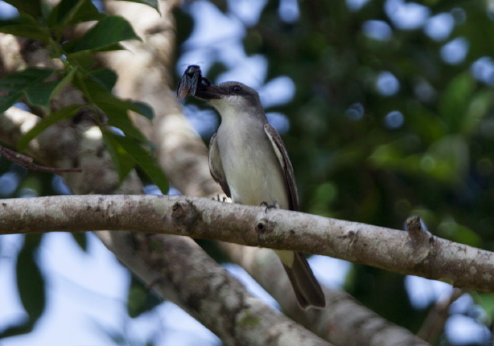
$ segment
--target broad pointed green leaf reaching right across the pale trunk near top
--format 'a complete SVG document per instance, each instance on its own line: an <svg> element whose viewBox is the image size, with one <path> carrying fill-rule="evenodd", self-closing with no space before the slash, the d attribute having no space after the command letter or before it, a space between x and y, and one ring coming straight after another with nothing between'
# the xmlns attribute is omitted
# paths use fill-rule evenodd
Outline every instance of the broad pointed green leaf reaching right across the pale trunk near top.
<svg viewBox="0 0 494 346"><path fill-rule="evenodd" d="M125 40L140 40L127 20L118 16L107 16L100 20L83 37L64 45L66 52L84 50L103 52L114 49L114 44Z"/></svg>

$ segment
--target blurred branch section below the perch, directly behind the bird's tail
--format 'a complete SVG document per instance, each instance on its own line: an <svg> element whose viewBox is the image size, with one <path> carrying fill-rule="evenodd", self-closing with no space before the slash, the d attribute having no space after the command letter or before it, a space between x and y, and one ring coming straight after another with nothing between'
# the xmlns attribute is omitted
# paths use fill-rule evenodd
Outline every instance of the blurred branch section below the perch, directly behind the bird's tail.
<svg viewBox="0 0 494 346"><path fill-rule="evenodd" d="M286 314L335 345L428 345L406 328L370 311L346 292L323 287L326 309L302 311L295 294L285 288L289 280L273 251L231 243L222 243L222 247L230 254L231 261L242 266L277 299Z"/></svg>

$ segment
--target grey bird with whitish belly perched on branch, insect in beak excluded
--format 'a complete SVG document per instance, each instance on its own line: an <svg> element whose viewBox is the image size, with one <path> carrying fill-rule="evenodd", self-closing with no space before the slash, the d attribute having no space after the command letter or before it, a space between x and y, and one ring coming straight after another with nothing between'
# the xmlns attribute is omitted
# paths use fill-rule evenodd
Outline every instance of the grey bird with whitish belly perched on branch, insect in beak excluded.
<svg viewBox="0 0 494 346"><path fill-rule="evenodd" d="M210 172L234 203L299 210L294 170L259 94L240 82L201 83L194 93L221 117L210 140ZM275 250L299 305L325 307L325 295L303 253Z"/></svg>

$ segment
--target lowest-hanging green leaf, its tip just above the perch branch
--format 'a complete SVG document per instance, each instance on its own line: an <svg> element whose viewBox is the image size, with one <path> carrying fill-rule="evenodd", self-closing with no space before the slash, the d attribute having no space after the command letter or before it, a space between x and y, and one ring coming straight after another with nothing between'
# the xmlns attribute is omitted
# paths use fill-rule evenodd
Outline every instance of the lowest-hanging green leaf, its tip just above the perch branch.
<svg viewBox="0 0 494 346"><path fill-rule="evenodd" d="M162 169L157 165L156 157L143 148L143 145L135 141L133 138L115 136L116 141L129 153L137 162L140 168L147 174L156 186L166 194L168 192L168 179L164 175Z"/></svg>

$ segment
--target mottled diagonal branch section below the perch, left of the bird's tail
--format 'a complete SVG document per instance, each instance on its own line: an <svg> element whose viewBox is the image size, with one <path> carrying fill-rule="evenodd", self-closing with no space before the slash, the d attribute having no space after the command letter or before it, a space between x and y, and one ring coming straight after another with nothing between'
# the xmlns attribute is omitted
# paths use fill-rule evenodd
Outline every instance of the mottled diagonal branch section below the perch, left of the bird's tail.
<svg viewBox="0 0 494 346"><path fill-rule="evenodd" d="M116 215L115 215L116 216ZM226 345L329 345L248 294L187 237L97 232L120 261ZM124 236L114 237L119 233Z"/></svg>

